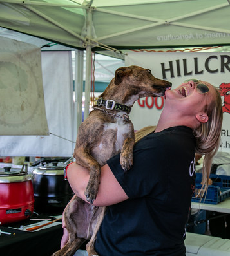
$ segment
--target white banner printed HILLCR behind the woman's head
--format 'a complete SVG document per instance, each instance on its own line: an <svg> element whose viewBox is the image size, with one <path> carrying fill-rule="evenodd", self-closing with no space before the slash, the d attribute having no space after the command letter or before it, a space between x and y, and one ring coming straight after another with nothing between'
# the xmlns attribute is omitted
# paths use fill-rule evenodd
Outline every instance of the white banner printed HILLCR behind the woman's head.
<svg viewBox="0 0 230 256"><path fill-rule="evenodd" d="M230 152L230 53L229 52L131 52L126 66L139 65L151 69L153 76L171 81L175 88L188 78L208 81L222 95L224 121L219 151ZM164 98L142 98L137 101L130 118L136 130L157 125Z"/></svg>

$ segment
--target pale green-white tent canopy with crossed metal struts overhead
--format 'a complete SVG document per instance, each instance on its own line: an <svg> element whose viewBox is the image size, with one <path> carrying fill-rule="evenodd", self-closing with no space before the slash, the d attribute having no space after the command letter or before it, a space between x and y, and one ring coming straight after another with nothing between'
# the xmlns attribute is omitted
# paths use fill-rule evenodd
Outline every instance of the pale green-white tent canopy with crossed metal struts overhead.
<svg viewBox="0 0 230 256"><path fill-rule="evenodd" d="M84 50L229 45L227 0L0 0L0 26Z"/></svg>

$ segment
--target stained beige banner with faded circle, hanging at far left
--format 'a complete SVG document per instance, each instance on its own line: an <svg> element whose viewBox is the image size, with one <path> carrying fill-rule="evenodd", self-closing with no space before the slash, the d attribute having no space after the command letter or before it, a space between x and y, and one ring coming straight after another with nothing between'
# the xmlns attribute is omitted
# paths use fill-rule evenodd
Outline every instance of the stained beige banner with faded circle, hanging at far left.
<svg viewBox="0 0 230 256"><path fill-rule="evenodd" d="M48 135L41 48L5 37L0 42L0 135Z"/></svg>

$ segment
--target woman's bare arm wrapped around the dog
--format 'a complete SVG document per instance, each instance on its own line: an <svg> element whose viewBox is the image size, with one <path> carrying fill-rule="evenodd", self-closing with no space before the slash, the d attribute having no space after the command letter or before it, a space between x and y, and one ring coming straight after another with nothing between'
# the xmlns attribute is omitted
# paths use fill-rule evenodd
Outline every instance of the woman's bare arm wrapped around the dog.
<svg viewBox="0 0 230 256"><path fill-rule="evenodd" d="M73 192L86 201L84 191L88 184L90 174L87 168L73 162L68 167L68 181ZM128 196L106 164L101 168L101 178L97 198L93 202L95 206L110 206L127 200ZM87 201L86 201L87 202Z"/></svg>

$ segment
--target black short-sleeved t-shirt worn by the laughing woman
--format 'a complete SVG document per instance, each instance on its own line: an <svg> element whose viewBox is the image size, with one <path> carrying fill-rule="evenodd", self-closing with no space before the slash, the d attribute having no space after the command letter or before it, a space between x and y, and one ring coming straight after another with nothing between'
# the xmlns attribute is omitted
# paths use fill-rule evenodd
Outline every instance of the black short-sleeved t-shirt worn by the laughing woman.
<svg viewBox="0 0 230 256"><path fill-rule="evenodd" d="M108 207L95 242L100 256L186 254L185 225L195 186L192 129L171 127L142 138L124 173L119 155L108 160L129 199Z"/></svg>

